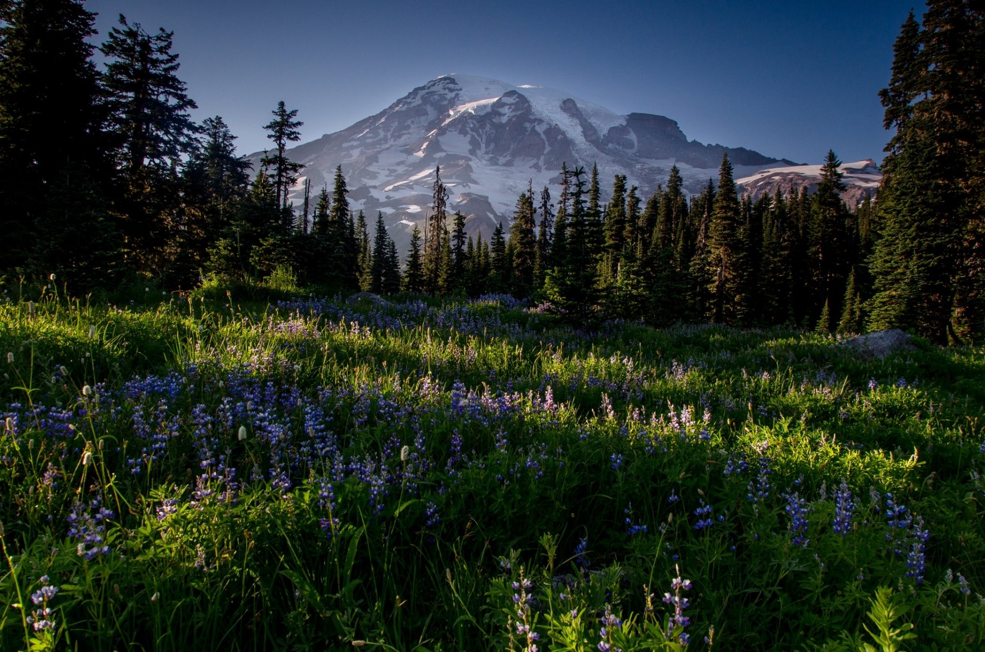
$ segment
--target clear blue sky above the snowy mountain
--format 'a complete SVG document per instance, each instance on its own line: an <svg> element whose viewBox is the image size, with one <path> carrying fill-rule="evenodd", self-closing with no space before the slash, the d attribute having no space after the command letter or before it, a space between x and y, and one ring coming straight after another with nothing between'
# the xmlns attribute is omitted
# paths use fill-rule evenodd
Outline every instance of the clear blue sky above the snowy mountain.
<svg viewBox="0 0 985 652"><path fill-rule="evenodd" d="M879 90L911 1L88 0L101 41L122 13L174 32L178 76L240 154L283 99L301 142L447 73L553 87L657 113L689 139L799 163L882 161ZM919 18L922 6L915 7Z"/></svg>

